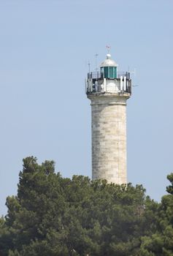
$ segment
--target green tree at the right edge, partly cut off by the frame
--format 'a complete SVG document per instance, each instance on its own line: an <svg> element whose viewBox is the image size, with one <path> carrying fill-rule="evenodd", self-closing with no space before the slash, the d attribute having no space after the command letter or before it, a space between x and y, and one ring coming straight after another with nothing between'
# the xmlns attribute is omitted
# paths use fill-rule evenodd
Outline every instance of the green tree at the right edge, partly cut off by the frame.
<svg viewBox="0 0 173 256"><path fill-rule="evenodd" d="M173 173L167 176L171 185L166 187L170 195L164 195L155 211L153 233L142 238L142 255L173 256Z"/></svg>

